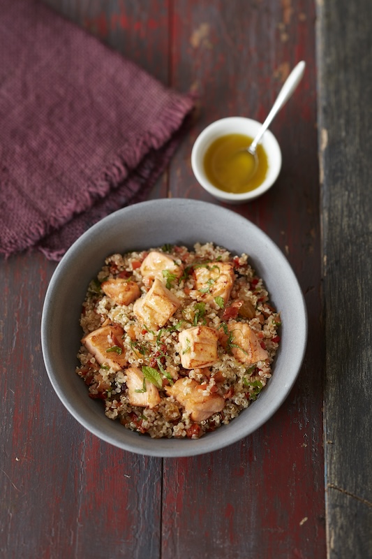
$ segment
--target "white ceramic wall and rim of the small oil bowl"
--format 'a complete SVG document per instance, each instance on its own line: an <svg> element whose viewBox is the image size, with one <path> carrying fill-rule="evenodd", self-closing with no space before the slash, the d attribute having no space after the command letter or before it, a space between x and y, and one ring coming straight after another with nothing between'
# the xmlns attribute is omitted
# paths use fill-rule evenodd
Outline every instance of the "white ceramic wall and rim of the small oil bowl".
<svg viewBox="0 0 372 559"><path fill-rule="evenodd" d="M207 177L204 176L204 173L200 168L202 166L201 162L199 161L200 151L205 151L204 146L206 144L210 145L212 140L208 140L208 137L211 136L211 134L216 131L216 129L221 129L220 135L223 135L229 133L228 129L234 129L234 126L241 124L246 124L247 127L256 129L256 131L253 132L253 136L255 136L255 133L258 132L260 126L262 126L262 123L258 122L258 120L247 117L224 117L215 120L200 132L199 136L196 138L193 144L193 149L191 150L191 167L193 169L195 178L196 180L198 180L200 186L218 200L230 203L249 202L255 200L255 198L258 198L258 196L262 196L262 194L265 194L265 192L267 192L273 186L274 182L276 182L282 165L281 147L274 134L269 129L267 129L262 136L261 143L265 145L268 157L271 158L271 168L269 168L269 175L265 178L264 182L262 182L259 187L248 192L235 194L233 192L225 192L215 187L214 184L211 184ZM224 128L225 131L223 131Z"/></svg>

